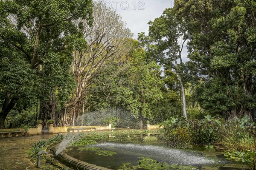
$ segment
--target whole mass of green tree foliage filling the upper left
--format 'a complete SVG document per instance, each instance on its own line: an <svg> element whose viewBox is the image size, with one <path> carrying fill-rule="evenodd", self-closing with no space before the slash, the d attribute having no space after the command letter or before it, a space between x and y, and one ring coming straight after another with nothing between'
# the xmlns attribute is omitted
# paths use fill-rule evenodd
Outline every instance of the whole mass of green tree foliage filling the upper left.
<svg viewBox="0 0 256 170"><path fill-rule="evenodd" d="M77 19L92 23L92 0L1 1L0 116L49 101L61 108L74 87L73 50L87 48ZM2 107L3 106L3 107ZM0 122L0 128L5 128Z"/></svg>

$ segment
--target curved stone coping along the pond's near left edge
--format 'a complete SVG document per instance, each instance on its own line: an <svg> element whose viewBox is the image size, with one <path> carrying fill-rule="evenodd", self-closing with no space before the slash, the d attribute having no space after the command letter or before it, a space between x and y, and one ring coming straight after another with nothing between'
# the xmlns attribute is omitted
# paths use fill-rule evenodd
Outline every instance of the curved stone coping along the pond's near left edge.
<svg viewBox="0 0 256 170"><path fill-rule="evenodd" d="M57 144L54 147L54 153L56 153L56 151L58 150L59 145L60 144ZM67 155L66 153L59 153L57 156L55 156L55 158L61 161L61 163L65 164L66 166L74 167L79 170L111 170L105 167L97 166L95 164L89 164L87 162L80 161Z"/></svg>

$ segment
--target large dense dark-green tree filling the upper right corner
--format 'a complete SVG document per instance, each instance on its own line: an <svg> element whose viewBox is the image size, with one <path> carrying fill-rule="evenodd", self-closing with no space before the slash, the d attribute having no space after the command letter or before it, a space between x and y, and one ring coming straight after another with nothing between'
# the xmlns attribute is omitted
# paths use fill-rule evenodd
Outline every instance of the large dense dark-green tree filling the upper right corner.
<svg viewBox="0 0 256 170"><path fill-rule="evenodd" d="M201 106L227 118L256 118L256 3L176 0L189 33L190 72Z"/></svg>

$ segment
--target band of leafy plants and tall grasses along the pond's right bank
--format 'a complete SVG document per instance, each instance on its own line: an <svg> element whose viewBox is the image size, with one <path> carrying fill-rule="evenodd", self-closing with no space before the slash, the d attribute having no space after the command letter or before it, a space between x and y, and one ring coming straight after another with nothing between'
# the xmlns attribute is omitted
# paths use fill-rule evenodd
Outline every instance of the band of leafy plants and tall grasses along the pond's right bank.
<svg viewBox="0 0 256 170"><path fill-rule="evenodd" d="M192 144L222 145L227 150L255 150L255 124L248 116L224 121L218 116L204 119L185 119L174 116L165 121L160 129L161 140L170 147L191 147Z"/></svg>

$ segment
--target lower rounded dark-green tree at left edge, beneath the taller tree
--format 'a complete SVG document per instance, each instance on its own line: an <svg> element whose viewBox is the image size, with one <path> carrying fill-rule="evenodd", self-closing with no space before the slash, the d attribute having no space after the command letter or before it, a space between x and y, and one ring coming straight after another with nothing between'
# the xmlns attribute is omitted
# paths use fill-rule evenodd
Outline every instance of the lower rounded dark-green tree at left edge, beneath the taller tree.
<svg viewBox="0 0 256 170"><path fill-rule="evenodd" d="M5 128L5 119L15 108L17 111L38 102L39 79L35 70L19 56L16 49L0 46L0 129Z"/></svg>

